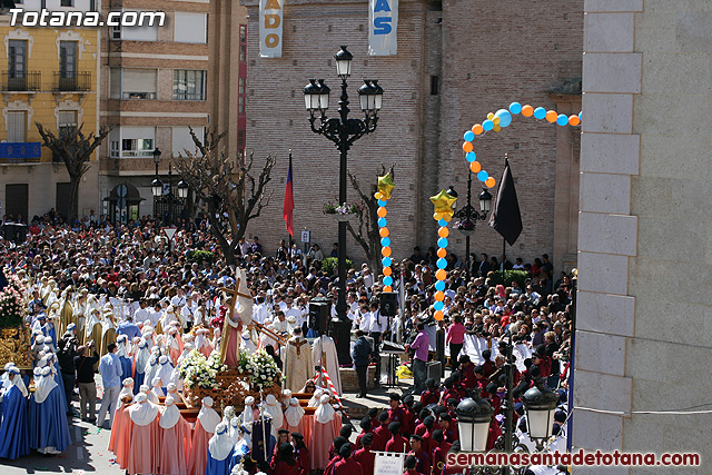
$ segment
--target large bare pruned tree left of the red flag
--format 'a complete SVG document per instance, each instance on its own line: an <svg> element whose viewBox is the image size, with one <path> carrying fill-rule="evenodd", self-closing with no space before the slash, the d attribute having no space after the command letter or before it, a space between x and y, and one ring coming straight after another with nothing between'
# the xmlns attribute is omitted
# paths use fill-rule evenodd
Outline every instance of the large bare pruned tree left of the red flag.
<svg viewBox="0 0 712 475"><path fill-rule="evenodd" d="M235 264L237 245L245 237L247 224L261 214L274 194L266 195L265 191L276 159L267 156L259 176L255 177L254 152L238 166L235 158L219 148L225 135L208 130L204 142L191 128L190 137L198 152L184 150L186 156L180 155L176 167L195 194L196 204L208 216L210 231L220 245L226 263Z"/></svg>

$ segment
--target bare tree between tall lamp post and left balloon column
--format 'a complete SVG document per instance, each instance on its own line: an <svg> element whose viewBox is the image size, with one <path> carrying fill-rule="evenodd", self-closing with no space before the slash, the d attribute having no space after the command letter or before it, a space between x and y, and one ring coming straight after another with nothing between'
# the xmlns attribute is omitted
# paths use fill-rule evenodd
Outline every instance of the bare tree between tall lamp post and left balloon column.
<svg viewBox="0 0 712 475"><path fill-rule="evenodd" d="M395 164L392 164L392 178L395 176L394 169ZM386 175L386 167L382 164L379 176L384 175ZM348 170L348 179L360 198L364 211L358 215L358 229L354 229L350 221L346 221L346 229L348 229L354 240L364 249L366 259L370 265L370 270L374 273L374 276L377 276L378 268L380 267L380 234L378 231L378 200L374 198L376 185L372 185L369 189L364 191L358 179L350 170Z"/></svg>

